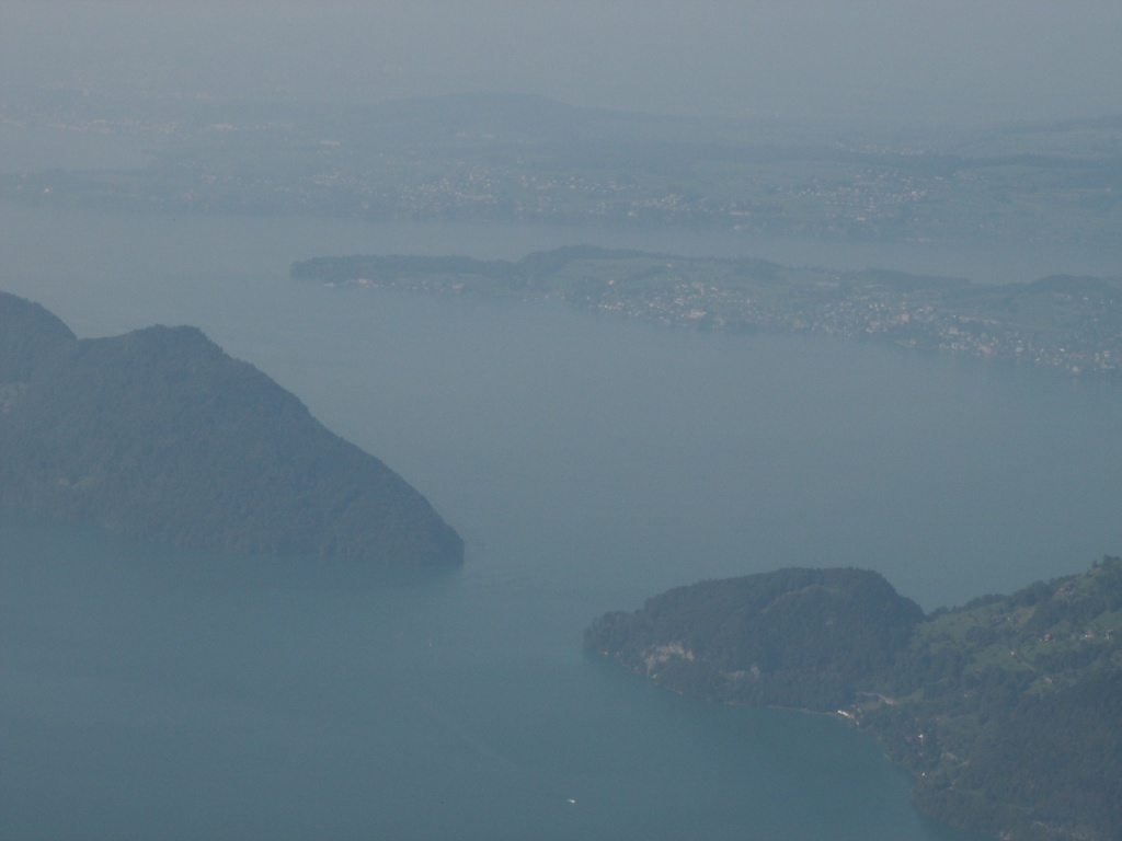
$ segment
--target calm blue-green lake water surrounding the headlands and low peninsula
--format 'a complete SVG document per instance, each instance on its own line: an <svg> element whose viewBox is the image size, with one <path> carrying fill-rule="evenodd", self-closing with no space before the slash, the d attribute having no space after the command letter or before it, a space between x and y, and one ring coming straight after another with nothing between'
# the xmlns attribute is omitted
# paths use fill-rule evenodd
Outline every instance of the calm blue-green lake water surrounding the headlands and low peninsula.
<svg viewBox="0 0 1122 841"><path fill-rule="evenodd" d="M687 240L651 247L717 251ZM344 585L3 512L0 837L964 838L842 723L670 695L580 632L782 565L879 570L926 609L1082 571L1122 552L1122 390L287 276L571 241L0 207L0 288L80 335L203 327L469 547L451 575Z"/></svg>

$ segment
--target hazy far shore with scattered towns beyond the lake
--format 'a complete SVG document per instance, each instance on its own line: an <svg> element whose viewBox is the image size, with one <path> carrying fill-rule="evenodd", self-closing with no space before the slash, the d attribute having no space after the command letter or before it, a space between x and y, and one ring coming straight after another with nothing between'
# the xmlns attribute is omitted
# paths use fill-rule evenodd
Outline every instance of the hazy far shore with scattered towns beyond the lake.
<svg viewBox="0 0 1122 841"><path fill-rule="evenodd" d="M0 137L82 148L84 163L0 173L0 200L1082 247L1115 243L1122 212L1119 118L890 142L498 95L361 111L125 107L62 94L49 107L35 102L10 95Z"/></svg>

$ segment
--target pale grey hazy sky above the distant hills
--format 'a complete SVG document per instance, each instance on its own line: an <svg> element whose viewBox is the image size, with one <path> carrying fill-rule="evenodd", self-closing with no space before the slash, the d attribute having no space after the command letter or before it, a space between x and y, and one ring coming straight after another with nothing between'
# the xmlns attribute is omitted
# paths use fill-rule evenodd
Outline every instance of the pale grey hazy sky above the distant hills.
<svg viewBox="0 0 1122 841"><path fill-rule="evenodd" d="M993 122L1122 112L1119 45L1118 0L0 0L4 80L130 94Z"/></svg>

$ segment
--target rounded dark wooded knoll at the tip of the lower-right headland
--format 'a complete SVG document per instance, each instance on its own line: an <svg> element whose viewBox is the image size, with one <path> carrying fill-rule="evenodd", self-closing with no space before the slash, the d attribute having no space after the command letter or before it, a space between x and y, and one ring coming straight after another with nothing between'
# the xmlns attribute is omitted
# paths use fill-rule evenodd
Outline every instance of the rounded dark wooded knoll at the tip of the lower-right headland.
<svg viewBox="0 0 1122 841"><path fill-rule="evenodd" d="M603 617L585 646L687 694L834 711L922 618L874 572L792 569L671 590Z"/></svg>

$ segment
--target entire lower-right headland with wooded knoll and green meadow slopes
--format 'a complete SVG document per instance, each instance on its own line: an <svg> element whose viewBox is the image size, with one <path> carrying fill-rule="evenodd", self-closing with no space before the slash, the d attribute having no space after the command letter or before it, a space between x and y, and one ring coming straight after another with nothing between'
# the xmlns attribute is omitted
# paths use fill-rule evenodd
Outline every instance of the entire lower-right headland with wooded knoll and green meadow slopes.
<svg viewBox="0 0 1122 841"><path fill-rule="evenodd" d="M675 692L835 714L921 811L1009 841L1122 838L1122 557L925 616L881 575L789 569L611 612L585 648Z"/></svg>

